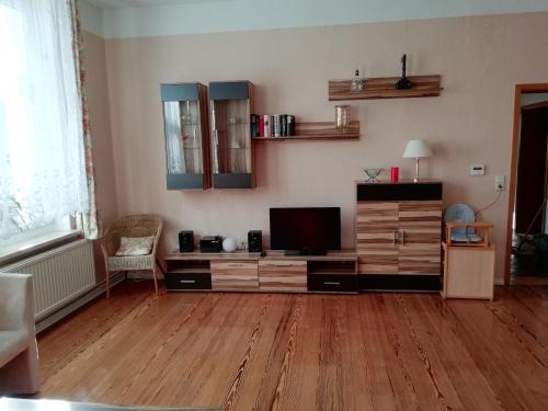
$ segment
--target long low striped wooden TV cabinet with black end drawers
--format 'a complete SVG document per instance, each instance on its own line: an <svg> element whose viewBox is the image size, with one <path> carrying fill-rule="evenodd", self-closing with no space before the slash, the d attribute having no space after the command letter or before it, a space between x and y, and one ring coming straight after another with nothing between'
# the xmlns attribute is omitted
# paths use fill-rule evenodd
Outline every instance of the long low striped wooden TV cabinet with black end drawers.
<svg viewBox="0 0 548 411"><path fill-rule="evenodd" d="M173 253L164 259L169 292L357 293L354 250L327 255Z"/></svg>

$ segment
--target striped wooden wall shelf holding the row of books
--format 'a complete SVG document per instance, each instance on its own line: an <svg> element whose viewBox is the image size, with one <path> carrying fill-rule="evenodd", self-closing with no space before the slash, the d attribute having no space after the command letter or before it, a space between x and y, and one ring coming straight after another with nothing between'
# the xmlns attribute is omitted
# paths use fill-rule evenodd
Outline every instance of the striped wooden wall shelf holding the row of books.
<svg viewBox="0 0 548 411"><path fill-rule="evenodd" d="M333 122L295 123L295 136L253 137L258 141L277 140L358 140L359 122L350 122L344 130L335 128Z"/></svg>

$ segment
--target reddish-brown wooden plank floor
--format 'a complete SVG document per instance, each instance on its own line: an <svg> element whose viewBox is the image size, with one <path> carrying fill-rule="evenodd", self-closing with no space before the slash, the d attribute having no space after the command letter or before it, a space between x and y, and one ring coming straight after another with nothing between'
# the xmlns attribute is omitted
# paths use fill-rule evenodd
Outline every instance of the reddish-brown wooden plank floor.
<svg viewBox="0 0 548 411"><path fill-rule="evenodd" d="M38 339L42 397L227 410L548 410L548 287L168 294L126 282Z"/></svg>

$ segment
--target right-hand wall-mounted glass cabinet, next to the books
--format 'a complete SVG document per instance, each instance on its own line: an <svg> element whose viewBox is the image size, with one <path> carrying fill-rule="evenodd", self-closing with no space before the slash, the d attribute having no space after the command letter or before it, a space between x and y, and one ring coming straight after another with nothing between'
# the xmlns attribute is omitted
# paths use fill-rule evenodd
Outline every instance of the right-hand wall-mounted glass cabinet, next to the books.
<svg viewBox="0 0 548 411"><path fill-rule="evenodd" d="M254 150L250 115L253 84L249 81L209 83L213 186L253 189Z"/></svg>

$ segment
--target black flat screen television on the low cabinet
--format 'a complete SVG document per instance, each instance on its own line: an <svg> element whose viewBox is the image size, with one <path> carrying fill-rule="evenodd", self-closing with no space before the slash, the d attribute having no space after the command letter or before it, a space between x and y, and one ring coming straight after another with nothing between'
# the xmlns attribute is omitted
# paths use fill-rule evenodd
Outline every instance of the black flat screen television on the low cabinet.
<svg viewBox="0 0 548 411"><path fill-rule="evenodd" d="M340 207L271 208L271 249L287 254L341 250Z"/></svg>

